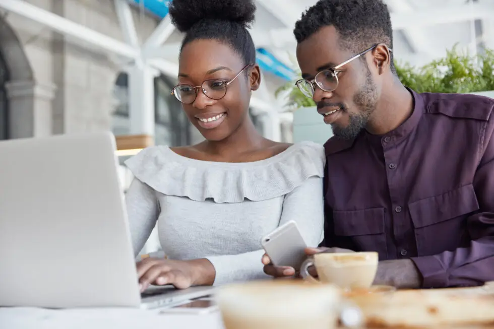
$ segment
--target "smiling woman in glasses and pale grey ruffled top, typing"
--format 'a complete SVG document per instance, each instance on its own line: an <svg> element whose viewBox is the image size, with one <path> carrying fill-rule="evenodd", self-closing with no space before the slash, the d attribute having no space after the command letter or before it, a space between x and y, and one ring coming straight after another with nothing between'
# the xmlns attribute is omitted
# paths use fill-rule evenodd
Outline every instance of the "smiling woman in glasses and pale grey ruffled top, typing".
<svg viewBox="0 0 494 329"><path fill-rule="evenodd" d="M248 110L261 75L246 30L253 1L173 0L185 32L172 93L204 136L188 147L151 147L129 159L127 208L134 251L158 223L168 259L137 265L141 289L264 278L261 237L294 220L307 242L323 234L324 149L263 138Z"/></svg>

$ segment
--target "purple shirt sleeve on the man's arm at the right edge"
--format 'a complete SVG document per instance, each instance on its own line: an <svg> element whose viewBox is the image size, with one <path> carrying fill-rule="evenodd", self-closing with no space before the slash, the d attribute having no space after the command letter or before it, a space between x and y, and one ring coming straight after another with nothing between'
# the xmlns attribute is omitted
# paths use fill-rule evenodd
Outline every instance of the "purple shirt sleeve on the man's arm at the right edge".
<svg viewBox="0 0 494 329"><path fill-rule="evenodd" d="M466 222L472 241L469 246L453 251L411 258L422 275L423 288L476 286L494 280L494 141L491 131L484 140L486 146L480 145L481 160L473 179L480 210Z"/></svg>

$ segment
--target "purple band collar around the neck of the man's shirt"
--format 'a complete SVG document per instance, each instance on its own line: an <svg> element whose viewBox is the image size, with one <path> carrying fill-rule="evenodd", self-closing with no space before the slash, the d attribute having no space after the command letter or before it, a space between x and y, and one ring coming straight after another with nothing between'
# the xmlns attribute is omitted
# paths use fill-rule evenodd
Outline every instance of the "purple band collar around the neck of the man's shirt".
<svg viewBox="0 0 494 329"><path fill-rule="evenodd" d="M424 101L420 94L408 87L405 88L410 92L410 94L412 94L414 104L412 114L408 119L405 120L405 122L403 122L396 129L390 131L385 135L372 135L367 133L366 130L363 130L356 138L351 140L342 140L336 137L332 137L326 142L326 144L324 144L326 156L351 148L355 143L355 140L357 140L361 136L365 136L371 143L376 143L377 145L381 145L382 139L386 137L390 137L393 140L397 141L408 136L408 134L410 134L413 129L415 129L418 122L420 121L420 118L422 117L424 111Z"/></svg>

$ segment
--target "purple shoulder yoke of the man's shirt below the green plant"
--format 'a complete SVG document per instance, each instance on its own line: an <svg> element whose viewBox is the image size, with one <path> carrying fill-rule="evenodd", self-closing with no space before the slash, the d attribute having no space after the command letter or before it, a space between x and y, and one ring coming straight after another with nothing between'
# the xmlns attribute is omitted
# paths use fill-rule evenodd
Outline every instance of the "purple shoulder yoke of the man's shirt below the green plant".
<svg viewBox="0 0 494 329"><path fill-rule="evenodd" d="M489 121L494 99L473 94L422 93L424 112L455 119Z"/></svg>

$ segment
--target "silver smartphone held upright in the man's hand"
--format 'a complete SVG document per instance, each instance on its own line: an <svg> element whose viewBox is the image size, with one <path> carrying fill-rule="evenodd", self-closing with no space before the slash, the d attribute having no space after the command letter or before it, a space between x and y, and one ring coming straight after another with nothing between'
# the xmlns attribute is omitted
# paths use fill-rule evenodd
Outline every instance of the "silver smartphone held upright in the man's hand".
<svg viewBox="0 0 494 329"><path fill-rule="evenodd" d="M299 271L302 262L307 258L304 251L307 244L295 221L283 224L263 237L261 245L275 266L290 266Z"/></svg>

